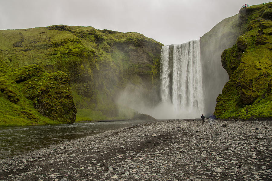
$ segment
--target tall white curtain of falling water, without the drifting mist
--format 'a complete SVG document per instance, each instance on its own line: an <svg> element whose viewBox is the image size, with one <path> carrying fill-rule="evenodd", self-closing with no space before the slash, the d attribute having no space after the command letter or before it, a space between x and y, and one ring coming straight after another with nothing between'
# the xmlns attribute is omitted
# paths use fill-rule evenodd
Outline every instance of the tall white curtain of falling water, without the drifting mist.
<svg viewBox="0 0 272 181"><path fill-rule="evenodd" d="M204 110L200 40L164 45L161 50L161 99L172 118L200 117Z"/></svg>

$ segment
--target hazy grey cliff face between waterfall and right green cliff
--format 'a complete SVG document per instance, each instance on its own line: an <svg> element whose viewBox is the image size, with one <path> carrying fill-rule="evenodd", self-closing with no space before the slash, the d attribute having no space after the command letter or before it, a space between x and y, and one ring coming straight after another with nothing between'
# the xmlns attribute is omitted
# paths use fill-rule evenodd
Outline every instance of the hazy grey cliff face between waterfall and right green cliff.
<svg viewBox="0 0 272 181"><path fill-rule="evenodd" d="M239 15L224 19L200 38L203 72L204 114L212 114L216 97L229 80L221 64L221 54L235 44L239 35L245 32L244 21Z"/></svg>

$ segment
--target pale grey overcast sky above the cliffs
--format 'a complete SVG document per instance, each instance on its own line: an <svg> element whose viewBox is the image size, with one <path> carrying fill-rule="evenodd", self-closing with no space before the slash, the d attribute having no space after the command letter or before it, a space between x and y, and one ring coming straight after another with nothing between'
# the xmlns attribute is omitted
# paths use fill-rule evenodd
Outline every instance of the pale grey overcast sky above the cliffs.
<svg viewBox="0 0 272 181"><path fill-rule="evenodd" d="M138 32L163 44L199 39L247 3L269 0L0 0L0 29L49 25ZM0 40L1 41L1 40Z"/></svg>

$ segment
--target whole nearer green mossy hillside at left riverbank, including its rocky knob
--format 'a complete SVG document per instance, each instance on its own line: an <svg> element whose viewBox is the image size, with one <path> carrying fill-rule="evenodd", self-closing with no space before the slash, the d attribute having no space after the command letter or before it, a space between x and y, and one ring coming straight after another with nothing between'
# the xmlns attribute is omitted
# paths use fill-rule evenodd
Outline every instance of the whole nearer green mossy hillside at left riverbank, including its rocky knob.
<svg viewBox="0 0 272 181"><path fill-rule="evenodd" d="M0 126L73 123L70 80L38 65L14 69L0 60Z"/></svg>

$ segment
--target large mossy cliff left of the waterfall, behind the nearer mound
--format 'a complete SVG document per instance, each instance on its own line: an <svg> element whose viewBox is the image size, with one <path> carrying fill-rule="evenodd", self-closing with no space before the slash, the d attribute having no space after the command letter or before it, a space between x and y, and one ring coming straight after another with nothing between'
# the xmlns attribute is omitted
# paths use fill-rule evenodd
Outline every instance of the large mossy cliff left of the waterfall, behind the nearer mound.
<svg viewBox="0 0 272 181"><path fill-rule="evenodd" d="M116 98L127 85L144 87L147 102L159 101L162 44L139 33L54 25L0 30L0 39L0 60L8 66L21 70L36 64L47 73L68 75L77 121L120 117Z"/></svg>

